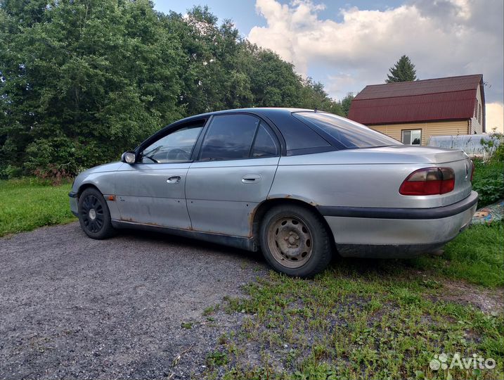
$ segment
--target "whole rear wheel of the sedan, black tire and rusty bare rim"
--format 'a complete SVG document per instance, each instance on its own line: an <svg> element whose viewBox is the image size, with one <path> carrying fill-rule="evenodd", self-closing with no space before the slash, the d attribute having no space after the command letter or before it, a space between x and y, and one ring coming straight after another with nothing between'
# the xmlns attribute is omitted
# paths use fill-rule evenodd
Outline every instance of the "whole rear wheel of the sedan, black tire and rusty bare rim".
<svg viewBox="0 0 504 380"><path fill-rule="evenodd" d="M313 277L332 258L332 239L321 216L299 205L268 210L261 222L260 241L269 265L289 276Z"/></svg>

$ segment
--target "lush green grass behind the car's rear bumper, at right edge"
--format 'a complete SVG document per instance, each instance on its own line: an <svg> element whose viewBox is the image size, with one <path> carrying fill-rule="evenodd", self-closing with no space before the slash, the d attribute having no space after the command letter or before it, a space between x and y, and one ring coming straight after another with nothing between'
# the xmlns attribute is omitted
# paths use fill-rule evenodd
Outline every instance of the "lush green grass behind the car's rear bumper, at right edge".
<svg viewBox="0 0 504 380"><path fill-rule="evenodd" d="M412 260L422 270L487 287L504 286L503 222L473 225L448 243L441 258Z"/></svg>

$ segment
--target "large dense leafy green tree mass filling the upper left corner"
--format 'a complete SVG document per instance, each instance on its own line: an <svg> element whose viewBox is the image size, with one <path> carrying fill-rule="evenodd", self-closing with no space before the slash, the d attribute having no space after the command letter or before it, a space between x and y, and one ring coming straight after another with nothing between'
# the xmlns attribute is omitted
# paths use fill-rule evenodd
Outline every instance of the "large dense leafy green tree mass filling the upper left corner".
<svg viewBox="0 0 504 380"><path fill-rule="evenodd" d="M149 1L40 3L0 2L0 172L74 174L181 117L179 40Z"/></svg>

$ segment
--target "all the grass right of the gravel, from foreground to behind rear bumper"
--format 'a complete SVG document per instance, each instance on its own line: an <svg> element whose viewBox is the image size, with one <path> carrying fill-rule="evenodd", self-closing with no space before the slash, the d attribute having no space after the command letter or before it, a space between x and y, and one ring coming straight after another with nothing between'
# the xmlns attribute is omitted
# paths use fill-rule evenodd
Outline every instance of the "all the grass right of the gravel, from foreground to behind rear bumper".
<svg viewBox="0 0 504 380"><path fill-rule="evenodd" d="M214 363L205 375L503 379L503 312L471 303L473 297L502 302L503 236L502 222L476 225L449 243L442 257L336 260L313 280L270 272L245 286L245 297L224 299L221 310L245 317L217 340L228 361ZM441 353L450 355L449 362L455 353L466 360L477 354L497 366L434 371L429 362Z"/></svg>

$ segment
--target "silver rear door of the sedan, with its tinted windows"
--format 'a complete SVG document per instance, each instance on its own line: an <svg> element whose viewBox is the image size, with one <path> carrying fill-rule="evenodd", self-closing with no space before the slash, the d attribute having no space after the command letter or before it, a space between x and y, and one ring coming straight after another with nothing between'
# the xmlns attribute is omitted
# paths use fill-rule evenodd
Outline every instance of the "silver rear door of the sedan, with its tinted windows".
<svg viewBox="0 0 504 380"><path fill-rule="evenodd" d="M214 116L186 179L193 229L249 236L250 215L268 196L279 158L276 135L264 121L248 114Z"/></svg>

